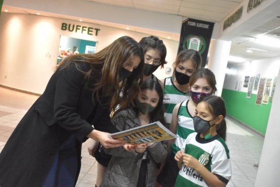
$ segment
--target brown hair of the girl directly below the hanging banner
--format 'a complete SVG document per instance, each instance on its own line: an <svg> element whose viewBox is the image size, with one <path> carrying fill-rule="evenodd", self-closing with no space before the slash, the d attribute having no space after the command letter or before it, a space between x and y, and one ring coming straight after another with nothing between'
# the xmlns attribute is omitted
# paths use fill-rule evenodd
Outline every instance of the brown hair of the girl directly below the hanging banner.
<svg viewBox="0 0 280 187"><path fill-rule="evenodd" d="M174 69L178 66L181 62L186 62L187 60L191 60L193 62L194 69L199 69L202 64L202 57L196 50L183 50L178 55L177 58L173 64ZM174 71L175 72L175 71Z"/></svg>

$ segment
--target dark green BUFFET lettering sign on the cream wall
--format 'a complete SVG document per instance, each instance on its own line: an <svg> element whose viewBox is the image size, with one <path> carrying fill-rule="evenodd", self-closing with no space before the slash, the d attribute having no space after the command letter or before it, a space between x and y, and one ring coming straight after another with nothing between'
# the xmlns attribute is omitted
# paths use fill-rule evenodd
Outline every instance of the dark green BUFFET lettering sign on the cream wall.
<svg viewBox="0 0 280 187"><path fill-rule="evenodd" d="M70 32L80 32L80 33L87 33L88 35L93 35L95 32L95 36L97 36L98 31L100 29L98 28L92 28L87 26L81 26L81 25L71 25L67 23L62 23L61 30L68 30Z"/></svg>

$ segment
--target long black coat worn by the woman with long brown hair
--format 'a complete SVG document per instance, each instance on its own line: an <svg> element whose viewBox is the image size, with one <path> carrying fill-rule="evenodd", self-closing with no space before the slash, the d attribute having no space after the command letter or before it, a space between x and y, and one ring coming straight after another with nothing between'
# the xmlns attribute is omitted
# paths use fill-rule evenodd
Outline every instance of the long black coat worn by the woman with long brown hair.
<svg viewBox="0 0 280 187"><path fill-rule="evenodd" d="M76 63L83 71L86 63ZM94 105L95 104L95 105ZM92 102L84 74L71 62L54 72L44 93L28 110L0 154L0 186L40 186L61 145L75 135L82 143L94 129L116 132L109 110ZM78 164L81 165L80 159ZM79 173L80 167L78 167ZM76 176L77 181L78 175Z"/></svg>

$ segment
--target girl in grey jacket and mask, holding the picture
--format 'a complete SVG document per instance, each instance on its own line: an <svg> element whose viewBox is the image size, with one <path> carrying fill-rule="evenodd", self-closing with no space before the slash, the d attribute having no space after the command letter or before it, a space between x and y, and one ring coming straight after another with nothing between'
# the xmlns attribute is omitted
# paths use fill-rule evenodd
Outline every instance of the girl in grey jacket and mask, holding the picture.
<svg viewBox="0 0 280 187"><path fill-rule="evenodd" d="M135 106L116 111L113 124L121 131L155 121L165 124L162 98L160 84L155 80L144 80L135 99ZM155 165L165 160L167 147L163 141L138 145L132 147L130 152L123 147L106 149L105 152L112 157L100 186L155 186Z"/></svg>

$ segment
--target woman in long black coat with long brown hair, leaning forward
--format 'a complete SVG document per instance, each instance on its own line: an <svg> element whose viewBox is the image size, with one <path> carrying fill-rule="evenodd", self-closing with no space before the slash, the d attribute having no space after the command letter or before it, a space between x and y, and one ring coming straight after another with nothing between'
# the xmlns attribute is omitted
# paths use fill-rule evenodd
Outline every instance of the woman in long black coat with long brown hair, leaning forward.
<svg viewBox="0 0 280 187"><path fill-rule="evenodd" d="M75 186L88 137L105 148L124 145L108 136L117 131L109 114L134 101L143 67L143 50L129 36L66 58L0 154L0 186Z"/></svg>

